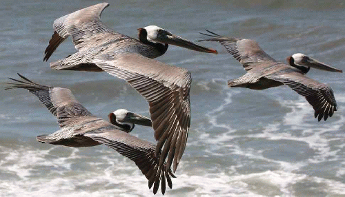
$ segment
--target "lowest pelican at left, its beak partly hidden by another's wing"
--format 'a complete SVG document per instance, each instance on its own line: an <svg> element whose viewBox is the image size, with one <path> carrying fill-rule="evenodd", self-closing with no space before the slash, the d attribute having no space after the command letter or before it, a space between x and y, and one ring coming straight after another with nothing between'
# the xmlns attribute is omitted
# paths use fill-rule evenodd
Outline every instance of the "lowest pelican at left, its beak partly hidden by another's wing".
<svg viewBox="0 0 345 197"><path fill-rule="evenodd" d="M171 177L175 178L171 169L159 165L159 157L155 154L155 145L128 134L134 124L150 126L150 118L117 110L109 114L110 122L92 115L86 110L67 88L39 85L18 74L22 81L11 80L6 89L23 88L29 90L46 105L48 110L57 117L61 129L49 135L37 136L37 141L53 145L69 147L90 147L107 145L119 154L130 158L148 179L148 187L153 187L156 194L161 183L161 193L166 190L166 183L172 188ZM159 156L159 154L158 154Z"/></svg>

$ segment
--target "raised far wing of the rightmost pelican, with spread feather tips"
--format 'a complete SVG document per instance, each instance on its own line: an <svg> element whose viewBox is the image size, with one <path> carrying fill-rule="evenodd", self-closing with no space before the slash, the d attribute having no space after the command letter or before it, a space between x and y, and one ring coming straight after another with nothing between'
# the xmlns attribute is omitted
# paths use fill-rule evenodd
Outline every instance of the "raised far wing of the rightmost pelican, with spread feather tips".
<svg viewBox="0 0 345 197"><path fill-rule="evenodd" d="M258 65L270 65L277 63L275 59L266 54L262 48L260 48L257 41L250 39L236 39L222 37L214 32L206 30L210 34L204 34L210 39L201 39L198 41L215 41L221 43L221 45L226 48L228 53L230 53L237 61L242 63L244 70L248 70L257 67Z"/></svg>

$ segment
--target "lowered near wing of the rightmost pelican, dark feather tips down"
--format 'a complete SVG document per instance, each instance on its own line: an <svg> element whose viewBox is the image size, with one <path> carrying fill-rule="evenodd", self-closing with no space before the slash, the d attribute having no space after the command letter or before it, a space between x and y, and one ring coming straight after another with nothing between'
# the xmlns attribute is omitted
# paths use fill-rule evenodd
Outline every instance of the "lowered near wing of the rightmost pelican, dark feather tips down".
<svg viewBox="0 0 345 197"><path fill-rule="evenodd" d="M306 101L315 110L315 118L318 116L317 119L319 121L322 118L326 121L328 116L331 117L333 112L337 111L333 90L323 83L319 83L298 72L289 72L279 76L268 75L266 78L280 81L291 87L298 94L306 97Z"/></svg>

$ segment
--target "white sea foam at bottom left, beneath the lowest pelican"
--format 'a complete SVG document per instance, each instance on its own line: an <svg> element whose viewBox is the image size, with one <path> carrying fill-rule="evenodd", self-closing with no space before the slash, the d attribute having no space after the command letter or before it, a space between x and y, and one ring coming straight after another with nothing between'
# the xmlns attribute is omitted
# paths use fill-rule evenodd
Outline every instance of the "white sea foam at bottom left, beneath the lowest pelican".
<svg viewBox="0 0 345 197"><path fill-rule="evenodd" d="M0 181L0 194L14 196L117 196L120 194L150 196L148 180L141 174L135 163L118 155L112 149L101 156L94 156L95 161L86 161L95 169L83 171L79 163L85 156L77 148L67 148L72 152L63 156L52 156L52 151L61 148L53 146L47 150L20 147L17 150L0 147L6 156L0 161L1 172L15 174L17 180ZM57 150L59 151L59 150ZM110 157L110 158L109 158ZM86 160L89 160L88 156ZM106 162L104 162L106 161ZM77 163L76 163L77 162ZM74 165L81 165L77 167ZM108 167L105 167L108 166ZM38 167L38 169L36 169ZM46 170L40 176L37 170ZM117 172L119 172L117 174ZM126 172L129 172L126 174ZM112 186L114 185L114 186ZM130 191L129 193L127 193Z"/></svg>

